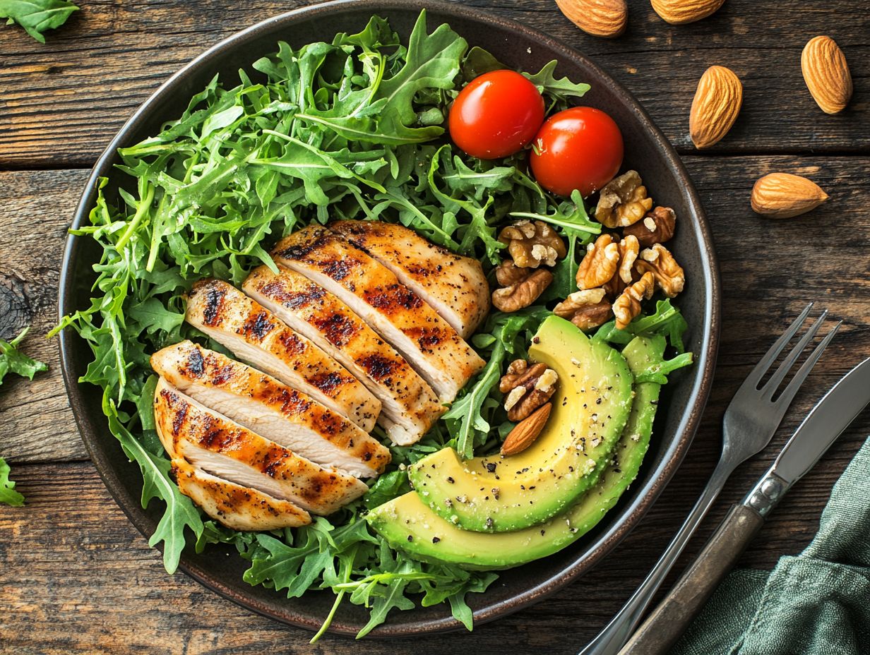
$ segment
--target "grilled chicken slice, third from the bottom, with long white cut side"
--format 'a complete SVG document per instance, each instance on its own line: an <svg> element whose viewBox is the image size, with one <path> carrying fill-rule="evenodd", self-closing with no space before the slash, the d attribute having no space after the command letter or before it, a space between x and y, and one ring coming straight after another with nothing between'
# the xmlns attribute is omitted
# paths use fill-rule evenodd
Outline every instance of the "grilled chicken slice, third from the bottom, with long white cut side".
<svg viewBox="0 0 870 655"><path fill-rule="evenodd" d="M390 451L358 425L219 352L183 341L151 355L151 368L178 391L312 462L363 478L390 462Z"/></svg>

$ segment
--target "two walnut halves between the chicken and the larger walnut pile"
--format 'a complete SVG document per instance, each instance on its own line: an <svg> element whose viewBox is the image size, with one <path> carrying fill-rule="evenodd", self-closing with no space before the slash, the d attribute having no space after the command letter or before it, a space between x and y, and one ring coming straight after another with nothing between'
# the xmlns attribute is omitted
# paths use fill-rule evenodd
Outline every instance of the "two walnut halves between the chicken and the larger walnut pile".
<svg viewBox="0 0 870 655"><path fill-rule="evenodd" d="M535 302L552 282L545 266L554 266L567 250L562 238L544 221L519 221L499 234L511 259L495 271L499 289L492 291L492 304L500 311L518 311Z"/></svg>

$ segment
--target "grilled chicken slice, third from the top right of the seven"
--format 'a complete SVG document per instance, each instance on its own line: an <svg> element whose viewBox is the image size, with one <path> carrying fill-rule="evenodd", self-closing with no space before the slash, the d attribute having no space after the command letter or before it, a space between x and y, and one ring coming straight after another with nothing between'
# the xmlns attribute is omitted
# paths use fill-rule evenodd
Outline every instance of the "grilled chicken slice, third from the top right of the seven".
<svg viewBox="0 0 870 655"><path fill-rule="evenodd" d="M297 272L265 266L242 285L294 329L356 375L381 401L378 423L400 445L413 444L445 408L432 388L346 304Z"/></svg>

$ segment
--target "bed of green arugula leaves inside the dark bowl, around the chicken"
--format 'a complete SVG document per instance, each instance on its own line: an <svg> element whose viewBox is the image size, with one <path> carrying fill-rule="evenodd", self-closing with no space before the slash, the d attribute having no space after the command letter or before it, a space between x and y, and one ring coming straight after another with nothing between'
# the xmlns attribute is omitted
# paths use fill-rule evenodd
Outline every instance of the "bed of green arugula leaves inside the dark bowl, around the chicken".
<svg viewBox="0 0 870 655"><path fill-rule="evenodd" d="M81 381L102 387L110 431L143 471L143 505L155 498L166 505L151 545L164 545L167 571L176 570L190 533L197 551L235 546L251 564L244 579L252 585L291 598L330 589L332 613L343 599L370 608L359 636L388 612L411 609L418 594L422 605L449 602L471 629L465 597L484 592L495 574L407 558L369 531L361 512L408 490L405 465L445 444L471 455L496 443L493 427L502 436L510 430L499 377L508 357L525 355L530 334L549 313L545 307L492 313L473 339L489 364L445 420L418 444L391 446L391 468L363 498L292 530L229 530L201 516L177 490L155 431L156 378L148 362L151 352L182 338L221 350L184 323L191 284L204 276L239 284L258 264L274 269L272 243L332 218L412 226L482 261L489 273L505 247L499 225L512 216L539 218L571 245L570 261L555 271L552 297L573 291L577 248L600 231L582 198L559 203L545 193L528 176L522 153L496 164L446 143L443 124L458 89L479 67L500 67L485 51L466 50L447 25L428 32L425 11L407 45L379 17L331 43L298 50L278 43L277 52L238 71L238 84L225 88L214 77L180 117L121 149L120 184L100 181L90 224L74 231L103 251L90 306L64 317L56 331L75 329L90 344L94 360ZM528 77L558 110L588 86L554 77L554 68L548 63ZM645 329L675 324L663 320ZM612 330L606 338L618 343L624 334Z"/></svg>

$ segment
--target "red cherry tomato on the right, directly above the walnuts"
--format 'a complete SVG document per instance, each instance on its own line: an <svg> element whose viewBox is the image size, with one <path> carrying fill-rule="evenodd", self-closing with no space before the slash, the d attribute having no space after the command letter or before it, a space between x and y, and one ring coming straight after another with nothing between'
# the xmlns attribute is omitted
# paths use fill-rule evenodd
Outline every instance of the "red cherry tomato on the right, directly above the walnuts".
<svg viewBox="0 0 870 655"><path fill-rule="evenodd" d="M604 111L572 107L547 118L532 147L532 173L546 190L583 197L600 190L622 165L622 134Z"/></svg>

